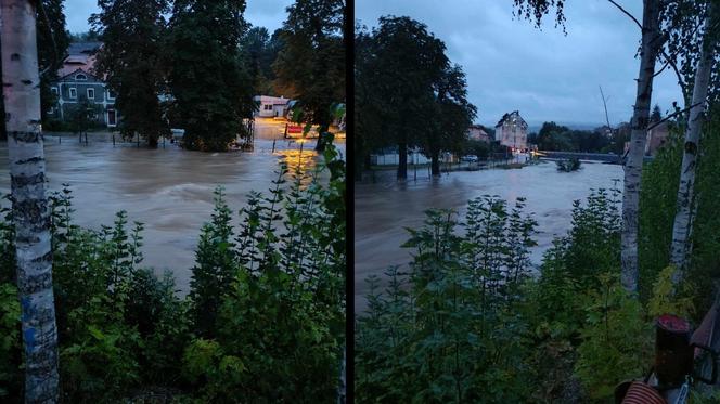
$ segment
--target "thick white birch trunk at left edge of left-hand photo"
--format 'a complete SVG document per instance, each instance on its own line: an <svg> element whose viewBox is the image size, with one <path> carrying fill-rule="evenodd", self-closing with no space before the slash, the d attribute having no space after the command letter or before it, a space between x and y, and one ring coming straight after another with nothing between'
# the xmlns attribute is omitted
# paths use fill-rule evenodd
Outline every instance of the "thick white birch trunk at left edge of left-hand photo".
<svg viewBox="0 0 720 404"><path fill-rule="evenodd" d="M2 92L25 348L25 403L56 403L57 333L35 15L35 1L0 0Z"/></svg>

